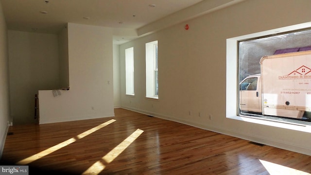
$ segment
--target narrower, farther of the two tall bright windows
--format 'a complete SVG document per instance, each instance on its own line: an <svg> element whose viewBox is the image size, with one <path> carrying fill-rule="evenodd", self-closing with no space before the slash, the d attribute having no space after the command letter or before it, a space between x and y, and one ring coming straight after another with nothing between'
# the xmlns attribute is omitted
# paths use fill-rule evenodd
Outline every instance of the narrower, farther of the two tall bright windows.
<svg viewBox="0 0 311 175"><path fill-rule="evenodd" d="M125 49L125 94L134 95L134 48Z"/></svg>

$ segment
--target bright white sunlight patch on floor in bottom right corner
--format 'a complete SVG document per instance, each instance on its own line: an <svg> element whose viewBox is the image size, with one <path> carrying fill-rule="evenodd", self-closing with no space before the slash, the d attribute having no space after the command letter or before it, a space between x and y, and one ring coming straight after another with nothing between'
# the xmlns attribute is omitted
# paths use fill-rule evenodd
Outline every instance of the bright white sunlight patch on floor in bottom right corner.
<svg viewBox="0 0 311 175"><path fill-rule="evenodd" d="M311 175L310 173L306 173L300 170L296 170L293 168L289 168L283 165L279 165L276 163L268 162L265 160L260 160L262 165L266 168L270 175Z"/></svg>

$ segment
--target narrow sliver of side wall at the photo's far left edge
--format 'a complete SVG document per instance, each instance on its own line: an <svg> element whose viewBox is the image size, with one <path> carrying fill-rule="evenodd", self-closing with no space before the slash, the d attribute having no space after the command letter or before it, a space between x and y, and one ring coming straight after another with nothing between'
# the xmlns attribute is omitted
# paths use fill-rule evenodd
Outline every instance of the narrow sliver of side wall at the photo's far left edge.
<svg viewBox="0 0 311 175"><path fill-rule="evenodd" d="M8 129L9 118L9 72L7 52L7 29L0 3L0 158Z"/></svg>

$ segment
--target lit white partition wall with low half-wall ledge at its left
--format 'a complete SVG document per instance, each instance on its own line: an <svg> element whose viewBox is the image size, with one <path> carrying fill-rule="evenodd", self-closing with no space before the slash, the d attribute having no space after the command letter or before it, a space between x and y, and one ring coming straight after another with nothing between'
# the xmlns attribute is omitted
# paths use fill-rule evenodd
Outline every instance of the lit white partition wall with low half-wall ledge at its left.
<svg viewBox="0 0 311 175"><path fill-rule="evenodd" d="M111 28L68 24L69 85L54 97L39 91L39 123L114 116Z"/></svg>

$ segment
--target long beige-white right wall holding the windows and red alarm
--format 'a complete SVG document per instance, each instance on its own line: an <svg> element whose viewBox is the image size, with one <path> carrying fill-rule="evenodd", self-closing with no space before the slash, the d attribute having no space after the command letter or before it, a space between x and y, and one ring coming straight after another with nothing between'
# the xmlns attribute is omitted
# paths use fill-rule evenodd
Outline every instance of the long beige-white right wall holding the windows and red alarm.
<svg viewBox="0 0 311 175"><path fill-rule="evenodd" d="M226 39L309 22L310 6L309 0L245 0L122 44L121 107L311 155L310 132L226 118ZM158 101L145 98L145 43L153 40ZM135 49L135 97L125 95L123 51L129 47Z"/></svg>

